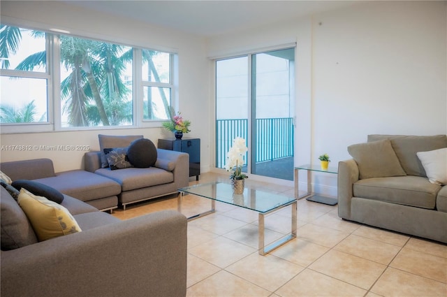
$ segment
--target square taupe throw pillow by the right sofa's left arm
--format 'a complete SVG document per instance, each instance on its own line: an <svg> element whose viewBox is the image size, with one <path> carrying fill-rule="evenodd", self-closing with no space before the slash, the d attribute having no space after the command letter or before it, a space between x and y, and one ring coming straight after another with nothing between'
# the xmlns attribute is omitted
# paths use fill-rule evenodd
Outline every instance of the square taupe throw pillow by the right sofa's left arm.
<svg viewBox="0 0 447 297"><path fill-rule="evenodd" d="M358 164L360 179L406 175L388 139L350 145L348 152Z"/></svg>

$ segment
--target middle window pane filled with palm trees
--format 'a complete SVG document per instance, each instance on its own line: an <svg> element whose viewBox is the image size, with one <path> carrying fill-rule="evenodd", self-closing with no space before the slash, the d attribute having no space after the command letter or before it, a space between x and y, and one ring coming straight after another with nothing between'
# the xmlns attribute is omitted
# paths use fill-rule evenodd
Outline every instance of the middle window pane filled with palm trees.
<svg viewBox="0 0 447 297"><path fill-rule="evenodd" d="M133 124L132 48L60 37L62 126Z"/></svg>

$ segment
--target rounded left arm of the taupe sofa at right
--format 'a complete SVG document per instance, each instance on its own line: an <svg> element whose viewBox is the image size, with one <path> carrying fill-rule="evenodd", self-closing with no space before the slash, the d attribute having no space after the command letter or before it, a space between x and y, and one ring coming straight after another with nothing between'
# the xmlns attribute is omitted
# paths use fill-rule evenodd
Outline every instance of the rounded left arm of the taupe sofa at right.
<svg viewBox="0 0 447 297"><path fill-rule="evenodd" d="M339 161L337 192L338 216L351 219L351 199L353 197L353 184L358 181L358 166L354 159Z"/></svg>

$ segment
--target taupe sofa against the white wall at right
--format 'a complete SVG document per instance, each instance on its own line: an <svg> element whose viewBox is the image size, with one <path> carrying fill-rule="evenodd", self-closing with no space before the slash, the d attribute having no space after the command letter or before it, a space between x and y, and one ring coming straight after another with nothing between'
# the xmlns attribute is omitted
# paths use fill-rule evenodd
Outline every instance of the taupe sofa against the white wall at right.
<svg viewBox="0 0 447 297"><path fill-rule="evenodd" d="M447 243L447 185L430 182L420 161L446 147L446 135L369 135L351 145L353 159L339 162L339 217ZM433 161L445 178L446 157Z"/></svg>

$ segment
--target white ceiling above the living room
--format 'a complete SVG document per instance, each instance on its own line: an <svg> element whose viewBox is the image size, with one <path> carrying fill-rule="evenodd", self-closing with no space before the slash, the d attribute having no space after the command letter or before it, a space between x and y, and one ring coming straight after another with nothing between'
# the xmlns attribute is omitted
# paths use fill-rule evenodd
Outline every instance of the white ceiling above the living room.
<svg viewBox="0 0 447 297"><path fill-rule="evenodd" d="M348 6L356 1L70 1L199 36L216 36Z"/></svg>

